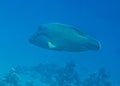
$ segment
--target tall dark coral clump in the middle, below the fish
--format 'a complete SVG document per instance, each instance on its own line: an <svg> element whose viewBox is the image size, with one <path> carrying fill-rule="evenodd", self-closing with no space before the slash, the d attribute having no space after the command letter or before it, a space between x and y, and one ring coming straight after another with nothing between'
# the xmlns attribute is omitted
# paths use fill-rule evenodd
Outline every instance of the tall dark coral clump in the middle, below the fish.
<svg viewBox="0 0 120 86"><path fill-rule="evenodd" d="M64 68L59 69L56 74L56 81L59 86L80 86L80 78L75 71L75 64L68 62Z"/></svg>

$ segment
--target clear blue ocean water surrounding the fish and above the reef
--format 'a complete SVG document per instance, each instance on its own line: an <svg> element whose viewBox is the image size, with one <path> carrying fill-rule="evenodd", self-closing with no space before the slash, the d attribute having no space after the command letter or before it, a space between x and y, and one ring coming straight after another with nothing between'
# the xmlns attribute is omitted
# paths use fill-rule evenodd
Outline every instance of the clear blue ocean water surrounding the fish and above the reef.
<svg viewBox="0 0 120 86"><path fill-rule="evenodd" d="M18 65L32 68L40 63L43 65L54 63L59 65L59 67L57 66L59 69L64 68L65 64L72 61L76 65L75 70L78 72L82 82L90 74L98 73L99 69L104 68L110 75L112 86L120 86L119 3L119 0L1 0L0 83L2 78L7 74L9 75L10 70L13 71ZM75 26L99 40L101 49L77 53L61 52L42 49L28 42L29 37L37 30L40 24L52 22ZM67 71L67 74L71 71ZM48 71L48 73L50 72ZM31 80L30 77L25 77L24 74L18 75L20 78L23 77L21 83L22 80L23 82ZM37 76L37 73L33 75ZM104 78L106 79L105 76ZM14 78L11 79L14 80ZM33 81L38 83L35 80L34 78ZM49 83L46 84L45 82L43 84L42 81L39 81L39 83L41 83L39 86L79 86L49 85ZM3 85L0 84L0 86ZM38 84L34 86L38 86ZM89 86L93 86L93 84Z"/></svg>

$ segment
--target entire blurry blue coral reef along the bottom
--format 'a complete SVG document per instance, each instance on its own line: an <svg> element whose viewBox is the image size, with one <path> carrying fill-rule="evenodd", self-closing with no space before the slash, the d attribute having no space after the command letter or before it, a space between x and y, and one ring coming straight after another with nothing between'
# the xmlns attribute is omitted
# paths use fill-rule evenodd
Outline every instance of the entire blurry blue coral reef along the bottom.
<svg viewBox="0 0 120 86"><path fill-rule="evenodd" d="M104 68L81 80L76 64L70 61L64 67L54 63L16 66L0 78L0 86L112 86L112 83Z"/></svg>

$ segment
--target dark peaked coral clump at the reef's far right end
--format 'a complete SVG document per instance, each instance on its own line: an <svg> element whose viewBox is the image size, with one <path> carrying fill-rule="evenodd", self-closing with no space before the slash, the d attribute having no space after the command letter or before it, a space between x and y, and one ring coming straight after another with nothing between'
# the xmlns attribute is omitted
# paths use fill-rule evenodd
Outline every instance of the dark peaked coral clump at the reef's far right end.
<svg viewBox="0 0 120 86"><path fill-rule="evenodd" d="M83 81L83 86L112 86L109 75L104 68L99 70L99 73L91 74Z"/></svg>

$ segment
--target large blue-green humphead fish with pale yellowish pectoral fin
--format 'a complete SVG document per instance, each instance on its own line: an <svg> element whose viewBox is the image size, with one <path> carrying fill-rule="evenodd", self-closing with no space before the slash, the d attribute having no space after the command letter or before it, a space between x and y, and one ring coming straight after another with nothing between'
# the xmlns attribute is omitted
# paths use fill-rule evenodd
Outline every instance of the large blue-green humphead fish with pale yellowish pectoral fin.
<svg viewBox="0 0 120 86"><path fill-rule="evenodd" d="M100 42L81 32L74 26L62 23L41 24L38 30L29 38L29 42L41 48L82 52L100 49Z"/></svg>

